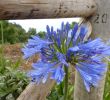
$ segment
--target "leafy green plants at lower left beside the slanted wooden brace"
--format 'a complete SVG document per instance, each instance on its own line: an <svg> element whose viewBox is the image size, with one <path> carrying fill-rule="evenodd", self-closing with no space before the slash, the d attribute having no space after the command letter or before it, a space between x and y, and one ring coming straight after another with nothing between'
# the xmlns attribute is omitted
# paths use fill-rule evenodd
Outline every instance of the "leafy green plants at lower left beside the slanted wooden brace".
<svg viewBox="0 0 110 100"><path fill-rule="evenodd" d="M16 100L28 85L29 79L25 72L19 70L20 60L13 62L2 56L0 59L0 100ZM10 96L11 99L6 99Z"/></svg>

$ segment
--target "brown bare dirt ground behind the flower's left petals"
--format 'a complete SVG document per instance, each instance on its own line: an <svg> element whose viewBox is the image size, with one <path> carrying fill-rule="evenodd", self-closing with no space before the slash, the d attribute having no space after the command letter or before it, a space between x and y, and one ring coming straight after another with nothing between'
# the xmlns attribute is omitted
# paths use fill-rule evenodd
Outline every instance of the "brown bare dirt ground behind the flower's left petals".
<svg viewBox="0 0 110 100"><path fill-rule="evenodd" d="M30 70L32 62L37 61L39 57L37 55L29 60L24 60L23 53L21 52L22 47L21 44L4 45L4 56L5 58L11 59L13 62L20 61L20 68Z"/></svg>

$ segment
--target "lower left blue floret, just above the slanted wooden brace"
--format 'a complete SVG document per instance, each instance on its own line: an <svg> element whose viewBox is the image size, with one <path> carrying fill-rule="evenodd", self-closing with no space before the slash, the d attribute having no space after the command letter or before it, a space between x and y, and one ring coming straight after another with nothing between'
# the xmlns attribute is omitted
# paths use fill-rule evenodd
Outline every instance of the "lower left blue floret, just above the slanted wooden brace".
<svg viewBox="0 0 110 100"><path fill-rule="evenodd" d="M34 63L33 70L28 72L28 76L32 78L36 83L45 83L49 77L49 73L53 70L56 63L38 61Z"/></svg>

